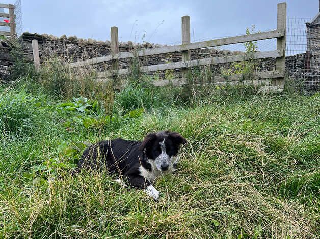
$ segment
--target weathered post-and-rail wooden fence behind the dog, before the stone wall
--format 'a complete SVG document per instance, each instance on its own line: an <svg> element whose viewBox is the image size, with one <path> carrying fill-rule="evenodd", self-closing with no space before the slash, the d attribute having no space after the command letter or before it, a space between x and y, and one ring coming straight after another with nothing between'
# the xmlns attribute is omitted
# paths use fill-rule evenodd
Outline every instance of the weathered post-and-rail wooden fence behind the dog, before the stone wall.
<svg viewBox="0 0 320 239"><path fill-rule="evenodd" d="M143 66L140 68L141 72L154 72L161 70L169 69L181 69L182 78L173 79L173 80L157 80L152 81L155 86L166 86L166 85L184 85L188 81L185 78L186 70L189 67L196 66L205 66L205 65L214 65L230 62L239 62L244 60L252 59L264 59L264 58L276 58L276 66L272 71L256 72L253 76L254 81L252 80L242 80L242 84L254 84L264 86L264 91L282 91L284 87L284 70L285 70L285 35L286 35L286 3L278 4L278 14L277 14L277 29L267 32L259 32L254 34L228 37L210 41L202 42L190 42L190 17L182 17L182 44L174 46L166 46L161 48L153 49L143 49L138 52L119 52L119 41L118 41L118 28L111 27L111 54L102 57L96 57L87 59L85 61L78 61L75 63L67 64L66 68L76 68L81 66L87 66L102 62L112 62L113 70L108 72L99 72L97 74L98 79L100 80L110 80L111 78L117 75L125 75L130 73L130 69L118 69L118 60L126 59L132 57L142 57L150 56L156 54L164 54L170 52L182 52L182 61L166 64L158 64L151 66ZM264 52L254 52L250 56L244 55L230 55L222 57L209 57L202 59L191 60L190 50L217 47L222 45L229 45L235 43L244 43L251 41L259 41L264 39L277 38L277 48L274 51L264 51ZM36 41L36 40L34 40ZM34 44L33 44L34 46ZM34 46L37 48L37 44ZM34 55L39 55L37 49L34 48ZM38 56L39 57L39 56ZM39 69L39 59L35 58L36 69ZM214 76L214 84L224 85L231 84L235 85L239 83L242 75L231 75L228 77L226 82L226 76ZM272 80L266 80L272 79ZM197 83L197 82L194 82Z"/></svg>

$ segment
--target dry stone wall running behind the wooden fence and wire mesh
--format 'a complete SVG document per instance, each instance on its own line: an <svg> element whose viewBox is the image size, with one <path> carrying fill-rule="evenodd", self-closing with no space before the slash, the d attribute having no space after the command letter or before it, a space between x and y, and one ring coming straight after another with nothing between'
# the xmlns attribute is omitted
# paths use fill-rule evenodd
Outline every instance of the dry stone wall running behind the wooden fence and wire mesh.
<svg viewBox="0 0 320 239"><path fill-rule="evenodd" d="M68 62L76 62L82 59L88 59L93 57L105 56L110 54L111 47L110 42L102 42L95 40L83 40L76 37L62 36L60 38L54 36L38 35L31 33L23 33L20 37L20 45L22 47L23 56L30 63L33 62L32 43L33 39L37 39L39 43L40 62L43 63L45 59L50 58L52 55L57 55L66 59ZM162 47L162 45L156 44L134 44L132 42L124 42L119 44L119 50L121 52L132 51L133 49L142 48L156 48ZM13 57L11 52L13 44L7 40L0 39L0 79L7 80L10 76L10 66L13 65ZM203 58L203 57L218 57L230 54L239 54L241 52L231 52L225 50L216 49L202 49L191 51L191 58ZM319 90L319 75L320 75L320 56L311 55L310 66L312 69L306 70L306 54L298 54L294 56L286 57L286 71L287 74L298 81L302 81L305 84L305 90L312 91ZM181 52L173 52L161 55L152 55L147 57L141 57L143 65L155 65L163 64L166 62L178 62L181 61ZM274 59L265 59L259 62L260 70L271 70L275 65ZM123 59L120 61L120 68L128 68L130 64L129 59ZM108 64L97 64L99 71L105 71L109 68ZM228 65L224 65L228 68ZM215 65L213 68L219 71L221 66ZM177 71L178 72L178 71ZM219 73L218 73L219 74Z"/></svg>

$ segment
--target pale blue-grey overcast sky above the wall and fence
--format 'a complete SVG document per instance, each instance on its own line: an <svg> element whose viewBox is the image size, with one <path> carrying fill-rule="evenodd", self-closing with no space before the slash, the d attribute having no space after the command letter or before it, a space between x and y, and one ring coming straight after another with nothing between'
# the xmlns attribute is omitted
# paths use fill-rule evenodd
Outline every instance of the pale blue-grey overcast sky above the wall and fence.
<svg viewBox="0 0 320 239"><path fill-rule="evenodd" d="M1 0L14 3L15 0ZM191 40L276 28L278 0L21 0L23 31L109 40L110 27L120 41L172 44L181 39L181 16L191 18ZM288 18L313 18L319 0L288 0Z"/></svg>

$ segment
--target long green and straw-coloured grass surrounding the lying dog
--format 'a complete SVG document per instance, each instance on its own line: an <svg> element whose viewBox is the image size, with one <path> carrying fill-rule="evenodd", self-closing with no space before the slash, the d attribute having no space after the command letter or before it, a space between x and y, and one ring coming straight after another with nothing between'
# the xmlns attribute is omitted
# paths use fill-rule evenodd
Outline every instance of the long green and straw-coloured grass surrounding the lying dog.
<svg viewBox="0 0 320 239"><path fill-rule="evenodd" d="M186 104L130 87L115 94L113 115L0 89L0 238L320 235L319 95L217 94ZM189 144L177 172L155 183L158 203L108 173L69 173L79 142L164 129Z"/></svg>

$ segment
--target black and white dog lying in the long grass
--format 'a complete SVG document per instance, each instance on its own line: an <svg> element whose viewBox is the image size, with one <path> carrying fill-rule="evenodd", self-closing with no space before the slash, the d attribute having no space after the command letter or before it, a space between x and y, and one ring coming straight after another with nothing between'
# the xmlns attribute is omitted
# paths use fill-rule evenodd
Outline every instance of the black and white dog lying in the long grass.
<svg viewBox="0 0 320 239"><path fill-rule="evenodd" d="M158 200L159 192L151 183L158 176L175 171L179 147L185 143L186 139L179 133L170 131L149 133L142 142L121 138L101 141L84 151L77 171L107 169L126 178L131 187L144 189Z"/></svg>

